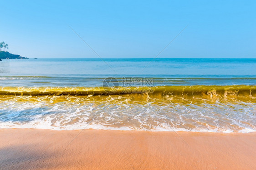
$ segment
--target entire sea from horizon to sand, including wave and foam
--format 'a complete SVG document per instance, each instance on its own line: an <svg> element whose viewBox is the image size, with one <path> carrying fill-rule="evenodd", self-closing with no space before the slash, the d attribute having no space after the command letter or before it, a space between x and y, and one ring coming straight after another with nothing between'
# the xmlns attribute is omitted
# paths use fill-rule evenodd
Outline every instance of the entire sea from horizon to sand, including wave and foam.
<svg viewBox="0 0 256 170"><path fill-rule="evenodd" d="M0 128L256 131L256 58L3 60Z"/></svg>

